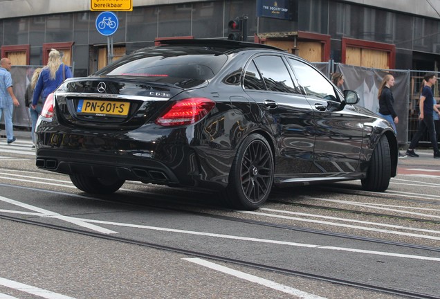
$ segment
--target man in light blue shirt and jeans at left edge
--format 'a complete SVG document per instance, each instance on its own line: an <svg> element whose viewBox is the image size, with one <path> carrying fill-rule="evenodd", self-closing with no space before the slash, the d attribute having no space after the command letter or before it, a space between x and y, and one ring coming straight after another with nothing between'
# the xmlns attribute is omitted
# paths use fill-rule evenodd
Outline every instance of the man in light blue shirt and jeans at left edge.
<svg viewBox="0 0 440 299"><path fill-rule="evenodd" d="M7 57L0 60L0 118L3 114L5 120L6 138L8 144L13 143L16 138L14 136L14 125L12 123L12 112L14 106L20 105L19 101L12 91L12 76L10 75L10 68L12 63Z"/></svg>

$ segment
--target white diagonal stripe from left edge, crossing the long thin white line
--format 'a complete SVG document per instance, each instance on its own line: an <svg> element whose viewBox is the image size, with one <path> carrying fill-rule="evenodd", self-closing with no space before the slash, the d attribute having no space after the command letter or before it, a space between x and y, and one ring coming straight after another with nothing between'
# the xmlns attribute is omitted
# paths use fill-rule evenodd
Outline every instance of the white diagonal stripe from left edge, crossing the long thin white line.
<svg viewBox="0 0 440 299"><path fill-rule="evenodd" d="M57 212L52 212L50 210L45 210L43 208L38 208L36 206L31 206L28 203L21 203L20 201L15 201L14 199L8 199L6 197L0 196L0 201L4 201L6 203L10 203L10 204L13 204L15 206L19 206L21 208L26 208L28 210L33 210L35 212L38 212L40 217L57 218L57 219L62 220L62 221L66 221L66 222L69 222L69 223L72 223L72 224L76 224L77 226L82 226L82 227L85 227L85 228L89 228L91 230L98 231L98 233L104 233L104 234L118 233L118 232L116 232L114 230L108 230L107 228L102 228L100 226L95 226L94 224L89 224L87 221L83 221L83 220L81 220L79 218L64 216L64 215L58 214Z"/></svg>

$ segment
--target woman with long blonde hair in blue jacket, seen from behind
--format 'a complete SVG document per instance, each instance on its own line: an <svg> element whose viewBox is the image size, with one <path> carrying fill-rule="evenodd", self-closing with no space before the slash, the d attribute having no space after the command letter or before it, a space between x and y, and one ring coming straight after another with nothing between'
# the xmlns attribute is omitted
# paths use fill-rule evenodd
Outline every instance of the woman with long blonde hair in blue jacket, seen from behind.
<svg viewBox="0 0 440 299"><path fill-rule="evenodd" d="M37 84L35 85L31 108L36 109L40 97L44 104L47 96L53 93L65 79L71 77L71 69L62 63L59 51L52 49L49 53L48 63L42 69L42 73L40 73Z"/></svg>

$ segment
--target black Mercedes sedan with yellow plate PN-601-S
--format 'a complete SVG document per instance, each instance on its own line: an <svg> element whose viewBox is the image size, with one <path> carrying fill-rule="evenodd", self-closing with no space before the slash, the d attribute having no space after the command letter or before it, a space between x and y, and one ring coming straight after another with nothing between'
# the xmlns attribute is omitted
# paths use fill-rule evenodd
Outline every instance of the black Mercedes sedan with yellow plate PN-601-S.
<svg viewBox="0 0 440 299"><path fill-rule="evenodd" d="M126 181L218 190L254 210L278 187L360 180L383 192L398 144L309 62L279 48L167 40L49 96L37 123L39 168L84 192Z"/></svg>

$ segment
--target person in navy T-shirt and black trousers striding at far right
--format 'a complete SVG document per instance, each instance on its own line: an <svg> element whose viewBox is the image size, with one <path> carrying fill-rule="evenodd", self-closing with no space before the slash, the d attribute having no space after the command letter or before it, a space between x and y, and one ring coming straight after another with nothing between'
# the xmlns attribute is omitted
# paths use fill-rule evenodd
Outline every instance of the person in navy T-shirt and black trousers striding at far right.
<svg viewBox="0 0 440 299"><path fill-rule="evenodd" d="M434 158L440 158L439 147L437 145L437 136L434 127L434 119L432 118L433 111L437 111L440 114L439 109L434 105L434 94L432 93L432 85L437 82L437 77L433 73L425 74L424 78L425 86L421 91L420 96L420 115L419 115L419 127L416 134L412 137L410 147L408 147L406 154L414 158L419 155L414 152L414 148L419 144L419 140L428 129L431 139L432 149L434 150Z"/></svg>

